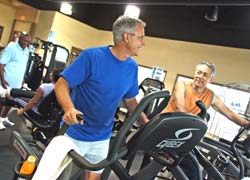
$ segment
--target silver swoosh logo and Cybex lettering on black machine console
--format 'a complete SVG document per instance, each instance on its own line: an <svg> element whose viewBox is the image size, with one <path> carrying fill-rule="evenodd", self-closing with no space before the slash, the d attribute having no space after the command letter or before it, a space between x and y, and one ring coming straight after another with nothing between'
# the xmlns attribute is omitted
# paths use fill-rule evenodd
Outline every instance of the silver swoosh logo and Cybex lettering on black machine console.
<svg viewBox="0 0 250 180"><path fill-rule="evenodd" d="M176 139L164 139L163 141L158 143L156 147L158 147L159 149L179 148L181 145L185 144L186 142L185 140L192 138L193 136L192 131L198 131L198 130L200 129L196 129L196 128L179 129L178 131L175 132ZM189 131L189 133L186 136L180 138L181 134L187 131Z"/></svg>

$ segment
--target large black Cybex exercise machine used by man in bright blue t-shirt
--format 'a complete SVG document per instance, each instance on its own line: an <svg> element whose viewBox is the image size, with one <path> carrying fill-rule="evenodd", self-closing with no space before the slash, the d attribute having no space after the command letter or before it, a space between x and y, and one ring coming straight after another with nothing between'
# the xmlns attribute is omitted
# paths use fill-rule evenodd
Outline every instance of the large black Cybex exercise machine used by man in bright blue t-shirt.
<svg viewBox="0 0 250 180"><path fill-rule="evenodd" d="M119 179L151 179L164 167L168 167L174 177L186 180L187 177L179 167L179 163L200 142L207 130L207 125L201 117L183 112L164 113L155 116L132 137L126 139L125 136L152 100L166 96L169 96L167 91L157 91L143 97L135 111L124 122L112 140L108 157L103 161L91 164L74 150L69 152L69 156L81 169L99 170L110 167ZM63 134L66 128L67 125L64 124L59 133ZM18 147L23 146L25 144L21 143ZM152 161L143 169L130 175L120 159L127 160L138 151L150 155Z"/></svg>

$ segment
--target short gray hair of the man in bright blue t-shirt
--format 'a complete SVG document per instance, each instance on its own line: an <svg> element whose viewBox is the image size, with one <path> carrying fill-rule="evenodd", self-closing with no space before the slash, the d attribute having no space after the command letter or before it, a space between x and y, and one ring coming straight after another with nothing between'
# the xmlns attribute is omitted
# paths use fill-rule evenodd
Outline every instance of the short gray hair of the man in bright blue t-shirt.
<svg viewBox="0 0 250 180"><path fill-rule="evenodd" d="M120 16L113 24L113 40L114 43L118 43L122 39L123 33L135 33L135 27L138 24L142 24L146 27L146 23L140 19L132 18L129 16Z"/></svg>

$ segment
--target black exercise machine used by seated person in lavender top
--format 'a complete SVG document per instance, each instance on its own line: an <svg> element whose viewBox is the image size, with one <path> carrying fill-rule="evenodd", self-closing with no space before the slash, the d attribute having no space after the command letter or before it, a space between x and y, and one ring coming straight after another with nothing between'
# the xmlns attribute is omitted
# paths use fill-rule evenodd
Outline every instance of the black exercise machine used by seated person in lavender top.
<svg viewBox="0 0 250 180"><path fill-rule="evenodd" d="M23 108L23 102L28 102L34 94L34 91L13 88L10 90L10 96L19 98L21 101L8 100L6 97L1 98L1 100L4 100L4 103L9 106ZM24 117L32 123L32 127L30 127L32 130L31 139L47 145L59 130L62 116L62 109L56 100L54 91L42 100L37 109L38 113L28 110L24 113Z"/></svg>

